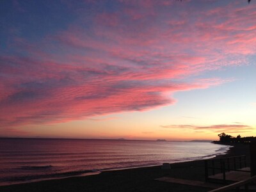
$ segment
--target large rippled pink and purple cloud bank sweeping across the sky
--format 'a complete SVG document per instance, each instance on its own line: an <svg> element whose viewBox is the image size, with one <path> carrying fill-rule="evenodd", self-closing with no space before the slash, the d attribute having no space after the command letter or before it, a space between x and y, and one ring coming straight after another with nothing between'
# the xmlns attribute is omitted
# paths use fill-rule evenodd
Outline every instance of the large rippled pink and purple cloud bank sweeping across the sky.
<svg viewBox="0 0 256 192"><path fill-rule="evenodd" d="M13 39L10 47L23 52L0 56L2 126L172 105L172 93L232 81L196 76L244 65L255 54L256 26L245 14L254 18L253 4L199 10L193 1L120 3L38 41Z"/></svg>

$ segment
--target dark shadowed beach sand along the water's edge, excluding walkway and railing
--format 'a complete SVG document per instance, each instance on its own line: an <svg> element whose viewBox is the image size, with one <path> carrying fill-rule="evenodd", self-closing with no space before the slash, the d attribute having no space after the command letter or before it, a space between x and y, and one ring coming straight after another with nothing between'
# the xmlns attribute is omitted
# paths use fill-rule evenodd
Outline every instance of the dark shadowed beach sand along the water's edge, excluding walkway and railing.
<svg viewBox="0 0 256 192"><path fill-rule="evenodd" d="M237 144L221 157L246 155L249 164L249 151L249 145ZM169 177L204 181L204 161L174 163L171 166ZM152 166L0 186L0 191L209 191L207 188L154 180L163 176L161 166Z"/></svg>

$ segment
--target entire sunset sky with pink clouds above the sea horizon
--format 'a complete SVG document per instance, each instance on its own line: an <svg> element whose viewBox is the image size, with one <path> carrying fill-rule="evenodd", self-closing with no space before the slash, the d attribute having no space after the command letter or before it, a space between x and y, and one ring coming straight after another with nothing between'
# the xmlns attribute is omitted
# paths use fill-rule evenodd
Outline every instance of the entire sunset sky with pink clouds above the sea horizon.
<svg viewBox="0 0 256 192"><path fill-rule="evenodd" d="M0 1L0 137L256 136L256 2Z"/></svg>

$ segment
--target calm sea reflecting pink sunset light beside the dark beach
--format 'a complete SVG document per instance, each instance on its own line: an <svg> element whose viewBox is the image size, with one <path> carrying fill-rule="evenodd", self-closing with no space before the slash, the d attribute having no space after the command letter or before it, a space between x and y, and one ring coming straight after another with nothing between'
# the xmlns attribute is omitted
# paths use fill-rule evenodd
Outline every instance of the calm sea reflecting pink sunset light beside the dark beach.
<svg viewBox="0 0 256 192"><path fill-rule="evenodd" d="M0 185L206 159L227 150L181 141L0 139Z"/></svg>

